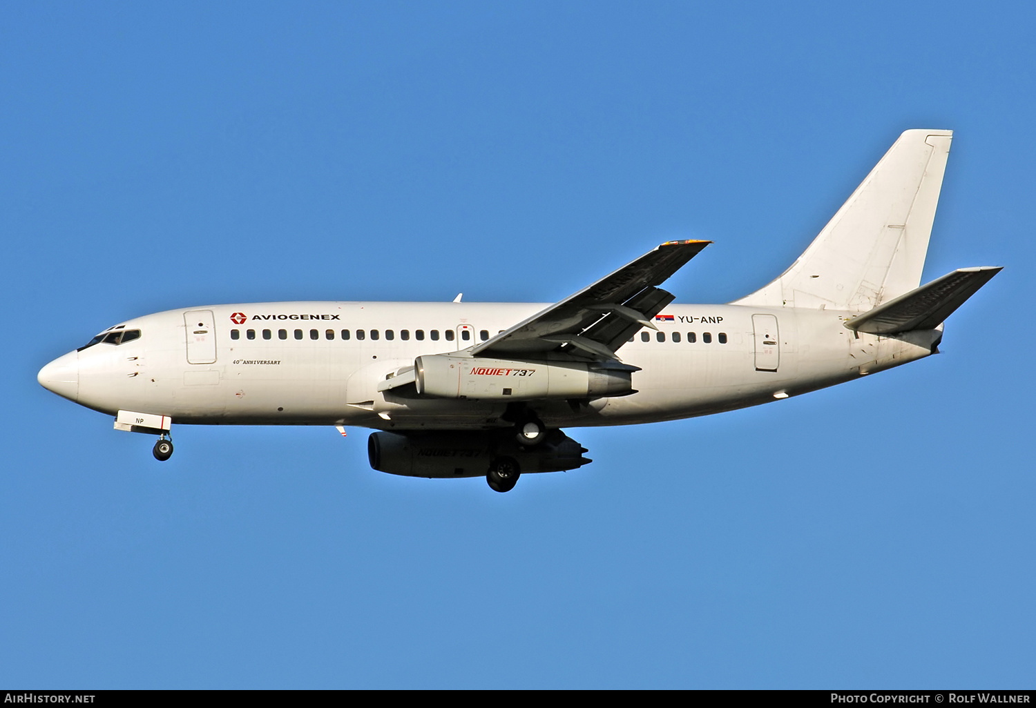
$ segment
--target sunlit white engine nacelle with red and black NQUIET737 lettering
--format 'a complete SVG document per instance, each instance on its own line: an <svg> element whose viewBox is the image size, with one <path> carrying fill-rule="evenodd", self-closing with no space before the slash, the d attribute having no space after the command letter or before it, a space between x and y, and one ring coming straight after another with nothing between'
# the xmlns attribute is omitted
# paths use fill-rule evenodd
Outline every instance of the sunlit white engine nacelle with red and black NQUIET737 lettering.
<svg viewBox="0 0 1036 708"><path fill-rule="evenodd" d="M633 392L633 366L509 361L433 354L414 362L418 393L439 399L534 401Z"/></svg>

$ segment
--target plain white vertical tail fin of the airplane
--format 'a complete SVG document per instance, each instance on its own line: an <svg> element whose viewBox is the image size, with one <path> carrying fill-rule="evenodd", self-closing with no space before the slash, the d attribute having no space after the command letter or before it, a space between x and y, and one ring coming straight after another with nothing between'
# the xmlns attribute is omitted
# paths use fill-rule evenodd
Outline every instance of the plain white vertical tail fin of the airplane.
<svg viewBox="0 0 1036 708"><path fill-rule="evenodd" d="M733 304L865 312L917 288L952 136L899 136L799 260Z"/></svg>

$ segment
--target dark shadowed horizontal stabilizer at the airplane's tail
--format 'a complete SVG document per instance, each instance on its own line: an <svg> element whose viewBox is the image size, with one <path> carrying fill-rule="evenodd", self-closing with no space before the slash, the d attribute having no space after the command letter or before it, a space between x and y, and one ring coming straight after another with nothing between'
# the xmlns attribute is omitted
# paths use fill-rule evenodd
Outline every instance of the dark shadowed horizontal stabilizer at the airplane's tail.
<svg viewBox="0 0 1036 708"><path fill-rule="evenodd" d="M845 322L871 334L934 329L1002 267L960 268Z"/></svg>

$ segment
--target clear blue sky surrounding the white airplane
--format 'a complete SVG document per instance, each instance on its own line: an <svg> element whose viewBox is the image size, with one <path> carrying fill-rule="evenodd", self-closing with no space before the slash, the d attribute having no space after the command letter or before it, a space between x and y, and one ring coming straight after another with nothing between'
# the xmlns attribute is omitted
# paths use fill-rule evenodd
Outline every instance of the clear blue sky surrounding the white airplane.
<svg viewBox="0 0 1036 708"><path fill-rule="evenodd" d="M1019 687L1036 650L1027 3L5 3L0 684ZM723 302L912 127L955 132L944 354L572 430L595 462L372 471L366 432L151 440L40 388L122 319L550 301L657 243Z"/></svg>

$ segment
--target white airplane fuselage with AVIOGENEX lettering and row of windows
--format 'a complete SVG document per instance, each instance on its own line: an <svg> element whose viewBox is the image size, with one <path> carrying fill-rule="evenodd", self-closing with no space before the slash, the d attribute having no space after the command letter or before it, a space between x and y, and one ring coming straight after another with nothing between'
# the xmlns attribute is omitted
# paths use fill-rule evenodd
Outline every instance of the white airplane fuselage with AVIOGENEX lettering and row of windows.
<svg viewBox="0 0 1036 708"><path fill-rule="evenodd" d="M140 330L136 340L61 357L51 371L60 370L66 381L48 387L108 414L139 411L177 423L503 426L510 424L500 419L506 403L404 397L379 392L377 385L418 356L467 349L545 306L274 302L170 311L122 323ZM656 318L658 331L644 328L618 351L625 363L641 370L633 374L635 393L529 405L556 427L706 415L913 361L930 354L942 334L857 333L842 326L846 317L825 309L671 304Z"/></svg>

